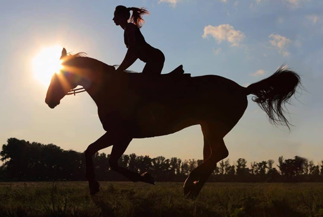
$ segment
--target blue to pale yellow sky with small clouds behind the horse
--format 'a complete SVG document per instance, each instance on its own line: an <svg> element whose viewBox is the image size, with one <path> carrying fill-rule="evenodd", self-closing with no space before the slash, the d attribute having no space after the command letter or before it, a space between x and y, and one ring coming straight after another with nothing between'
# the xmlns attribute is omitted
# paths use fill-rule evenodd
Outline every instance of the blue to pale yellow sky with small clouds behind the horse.
<svg viewBox="0 0 323 217"><path fill-rule="evenodd" d="M164 53L162 73L183 64L192 76L216 74L242 86L270 76L282 64L300 74L304 89L287 106L294 125L290 131L270 124L248 96L244 116L224 137L231 163L240 157L248 165L269 159L278 163L281 155L323 160L321 0L0 0L0 5L1 145L16 137L83 152L105 133L87 93L65 96L50 109L45 104L48 84L37 79L32 62L42 49L59 46L120 64L127 48L112 18L117 5L126 5L149 10L141 32ZM129 69L143 67L137 60ZM125 152L130 153L203 159L201 128L133 139Z"/></svg>

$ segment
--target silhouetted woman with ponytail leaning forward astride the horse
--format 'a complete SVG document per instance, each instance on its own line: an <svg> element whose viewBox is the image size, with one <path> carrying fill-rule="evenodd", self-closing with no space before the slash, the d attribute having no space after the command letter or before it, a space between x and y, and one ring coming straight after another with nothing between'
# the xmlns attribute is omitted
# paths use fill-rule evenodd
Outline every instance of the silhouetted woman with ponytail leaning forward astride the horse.
<svg viewBox="0 0 323 217"><path fill-rule="evenodd" d="M130 11L132 15L130 17ZM145 38L140 32L143 14L149 14L145 8L125 7L119 5L114 11L113 21L116 25L120 25L124 29L124 43L128 48L127 54L117 71L124 71L132 65L138 58L145 62L146 65L142 70L143 74L161 74L164 66L164 54L145 41ZM128 20L130 19L130 23Z"/></svg>

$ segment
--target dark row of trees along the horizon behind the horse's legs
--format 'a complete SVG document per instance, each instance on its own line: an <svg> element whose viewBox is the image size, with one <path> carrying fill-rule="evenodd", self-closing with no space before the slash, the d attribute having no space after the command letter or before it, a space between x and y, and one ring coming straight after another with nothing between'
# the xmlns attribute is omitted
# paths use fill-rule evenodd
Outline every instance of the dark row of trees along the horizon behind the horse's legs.
<svg viewBox="0 0 323 217"><path fill-rule="evenodd" d="M41 144L9 138L0 152L0 181L86 181L84 153L63 150L54 144ZM93 156L96 178L99 181L129 181L109 169L109 154ZM149 172L157 182L182 182L203 160L181 160L163 156L124 154L120 166L138 173ZM244 158L234 164L229 160L217 163L208 181L211 182L322 182L323 160L320 165L295 156L292 159L251 162ZM277 168L275 167L277 166Z"/></svg>

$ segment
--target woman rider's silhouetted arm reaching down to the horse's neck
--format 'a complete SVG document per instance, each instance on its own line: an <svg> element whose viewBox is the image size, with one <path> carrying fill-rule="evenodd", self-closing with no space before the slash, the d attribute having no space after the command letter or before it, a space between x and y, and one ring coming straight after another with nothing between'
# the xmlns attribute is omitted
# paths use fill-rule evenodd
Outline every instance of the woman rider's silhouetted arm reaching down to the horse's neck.
<svg viewBox="0 0 323 217"><path fill-rule="evenodd" d="M132 65L138 59L138 44L136 42L136 27L133 24L127 24L125 31L128 37L128 51L124 57L122 63L118 67L118 71L126 70L130 65ZM138 28L138 27L137 27Z"/></svg>

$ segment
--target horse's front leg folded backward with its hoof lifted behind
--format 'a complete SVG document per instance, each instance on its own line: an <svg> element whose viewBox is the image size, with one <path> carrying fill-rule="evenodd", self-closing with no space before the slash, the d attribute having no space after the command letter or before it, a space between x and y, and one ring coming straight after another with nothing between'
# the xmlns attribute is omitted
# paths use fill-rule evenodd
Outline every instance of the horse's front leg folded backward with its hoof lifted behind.
<svg viewBox="0 0 323 217"><path fill-rule="evenodd" d="M154 179L149 173L139 174L126 168L123 168L118 164L119 158L126 151L131 140L132 138L127 136L121 136L120 138L116 139L109 158L110 168L127 177L132 182L146 182L150 184L155 184Z"/></svg>

